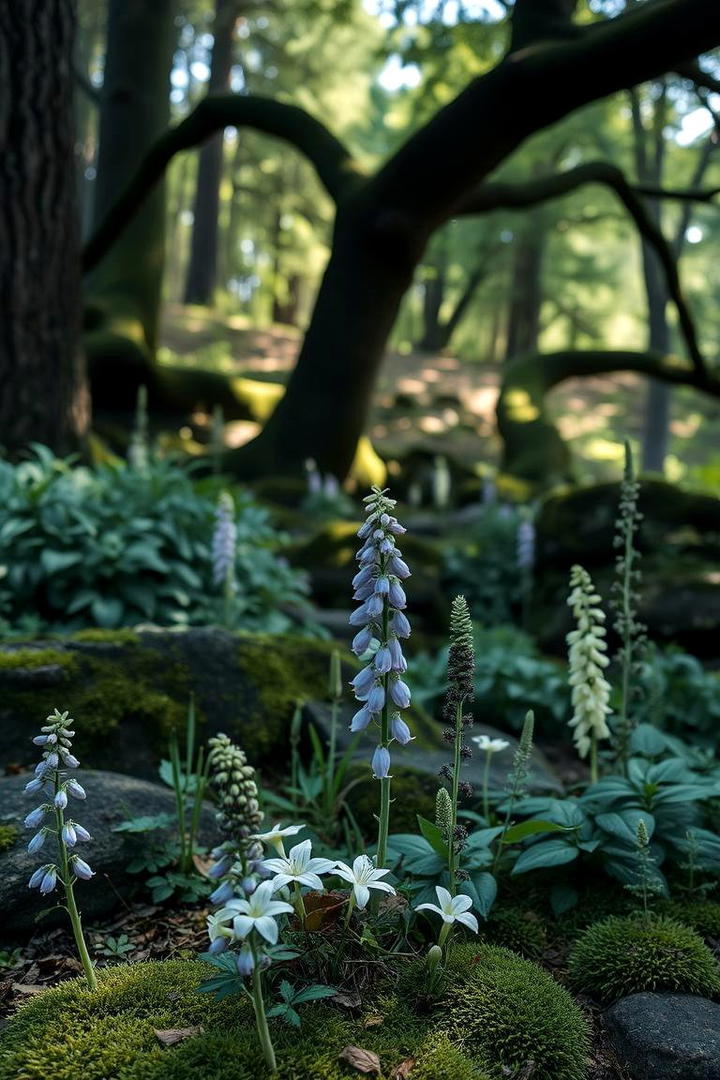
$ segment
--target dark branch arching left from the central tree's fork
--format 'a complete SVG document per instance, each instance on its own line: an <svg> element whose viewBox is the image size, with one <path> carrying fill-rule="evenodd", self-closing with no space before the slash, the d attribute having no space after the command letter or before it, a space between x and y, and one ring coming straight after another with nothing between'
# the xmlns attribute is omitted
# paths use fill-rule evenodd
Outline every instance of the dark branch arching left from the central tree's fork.
<svg viewBox="0 0 720 1080"><path fill-rule="evenodd" d="M325 190L336 202L357 180L358 171L342 143L297 105L239 94L206 97L148 150L134 177L87 241L83 252L85 272L99 262L118 239L175 154L204 143L223 127L254 127L291 144L314 165Z"/></svg>

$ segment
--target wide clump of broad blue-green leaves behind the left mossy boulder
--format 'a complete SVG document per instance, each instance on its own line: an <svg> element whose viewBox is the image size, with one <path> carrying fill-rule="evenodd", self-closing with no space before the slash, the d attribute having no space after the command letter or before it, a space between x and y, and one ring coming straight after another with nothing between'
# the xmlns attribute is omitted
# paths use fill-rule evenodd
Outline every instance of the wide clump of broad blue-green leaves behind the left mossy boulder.
<svg viewBox="0 0 720 1080"><path fill-rule="evenodd" d="M0 460L2 625L216 622L213 485L169 458L141 469L122 461L86 468L36 445L19 464ZM305 580L280 557L284 537L243 491L236 538L236 625L280 633L302 622Z"/></svg>

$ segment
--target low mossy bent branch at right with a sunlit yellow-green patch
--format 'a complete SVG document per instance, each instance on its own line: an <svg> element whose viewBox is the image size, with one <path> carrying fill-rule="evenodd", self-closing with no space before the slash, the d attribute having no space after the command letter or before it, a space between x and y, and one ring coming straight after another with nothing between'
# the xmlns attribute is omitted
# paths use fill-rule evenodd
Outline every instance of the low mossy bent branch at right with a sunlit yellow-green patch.
<svg viewBox="0 0 720 1080"><path fill-rule="evenodd" d="M532 488L573 480L570 451L546 407L547 394L566 379L612 372L636 372L720 397L718 375L698 373L671 354L630 349L526 353L507 366L495 407L503 471Z"/></svg>

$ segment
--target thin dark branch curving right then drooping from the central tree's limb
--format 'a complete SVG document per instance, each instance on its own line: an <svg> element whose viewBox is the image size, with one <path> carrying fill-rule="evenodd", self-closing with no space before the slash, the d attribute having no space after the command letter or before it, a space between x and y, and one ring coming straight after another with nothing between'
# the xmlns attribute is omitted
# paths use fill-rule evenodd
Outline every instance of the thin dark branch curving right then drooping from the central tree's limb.
<svg viewBox="0 0 720 1080"><path fill-rule="evenodd" d="M603 161L590 161L578 165L575 168L570 168L566 173L543 176L525 184L484 184L472 197L460 204L458 212L477 214L500 207L508 210L532 206L547 199L574 191L583 184L603 184L614 191L635 221L640 234L657 255L665 274L669 297L678 312L678 321L690 357L698 374L706 375L705 359L697 341L690 308L680 286L678 266L673 248L662 229L653 220L652 215L648 213L638 193L639 189L629 184L622 170L617 168L616 165ZM649 193L650 189L643 189L643 194Z"/></svg>

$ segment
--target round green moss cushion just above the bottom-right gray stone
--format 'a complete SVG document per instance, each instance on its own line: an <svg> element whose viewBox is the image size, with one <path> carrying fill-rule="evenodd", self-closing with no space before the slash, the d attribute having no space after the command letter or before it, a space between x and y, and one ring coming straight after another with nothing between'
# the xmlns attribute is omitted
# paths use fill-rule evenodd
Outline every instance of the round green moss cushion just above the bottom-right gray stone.
<svg viewBox="0 0 720 1080"><path fill-rule="evenodd" d="M665 916L596 922L575 942L570 974L579 990L603 1002L644 990L720 994L720 966L703 939Z"/></svg>

